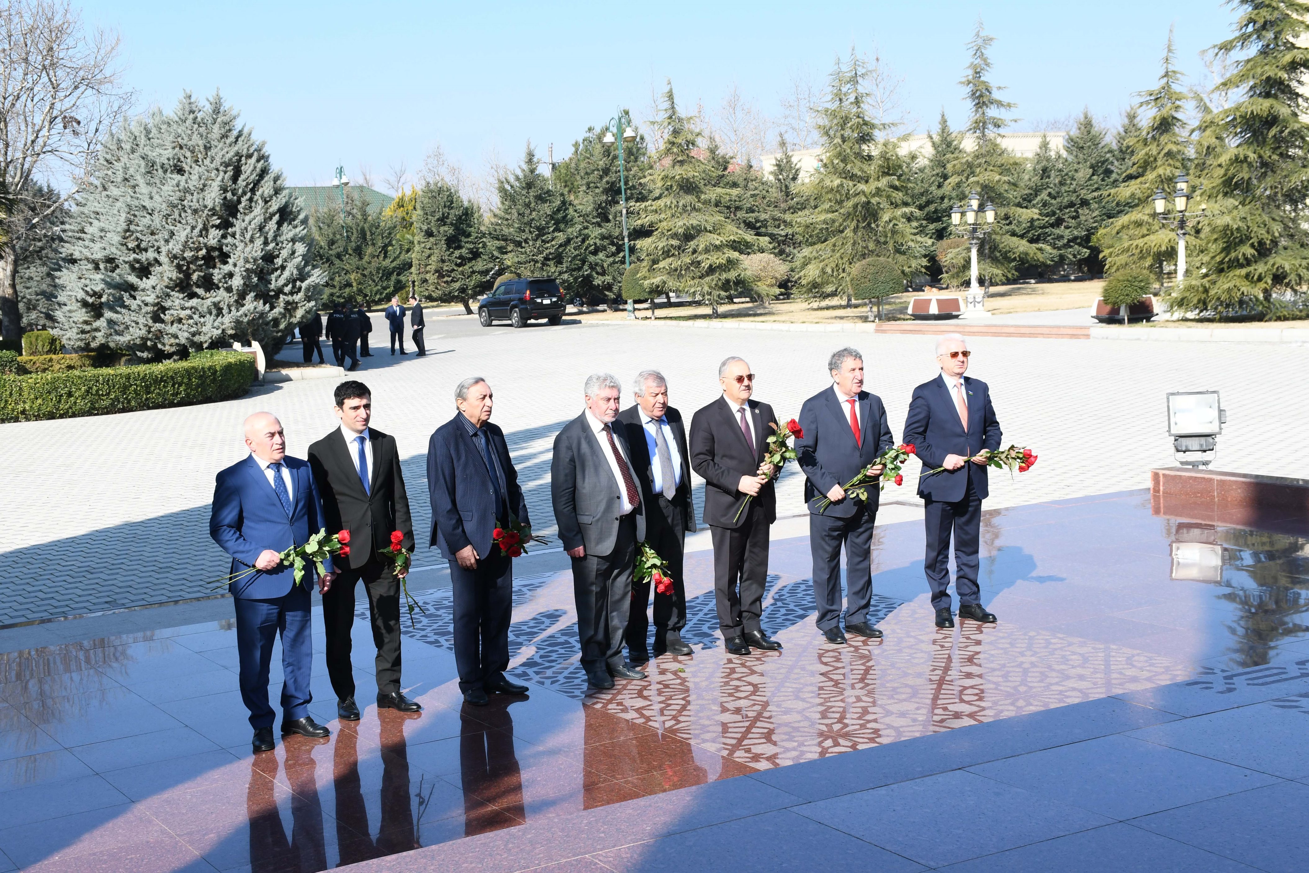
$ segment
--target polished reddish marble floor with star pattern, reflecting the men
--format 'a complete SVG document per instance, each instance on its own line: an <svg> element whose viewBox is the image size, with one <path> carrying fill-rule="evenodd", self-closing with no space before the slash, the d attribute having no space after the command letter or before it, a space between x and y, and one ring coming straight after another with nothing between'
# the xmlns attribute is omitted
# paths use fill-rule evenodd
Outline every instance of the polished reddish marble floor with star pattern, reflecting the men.
<svg viewBox="0 0 1309 873"><path fill-rule="evenodd" d="M983 602L997 626L932 627L922 529L905 522L874 543L885 640L821 644L798 538L774 543L770 561L764 624L784 650L728 658L709 555L696 552L683 633L695 654L601 694L586 694L576 666L567 573L518 580L512 674L533 691L486 708L459 705L448 592L420 594L425 614L406 619L404 682L425 705L415 716L368 707L338 722L319 620L312 708L332 736L258 757L230 622L0 654L0 872L317 870L524 823L567 830L619 804L615 817L653 821L674 789L766 780L802 796L787 779L819 759L856 753L847 770L863 772L853 763L876 746L918 749L953 728L1093 712L1080 707L1161 687L1236 700L1309 677L1305 539L1153 517L1144 492L1001 509L983 524ZM363 623L355 635L364 698L370 636ZM1306 699L1276 711L1309 713ZM995 779L979 774L969 776ZM1007 779L1041 775L1038 763ZM954 857L911 848L885 853L919 866ZM645 869L619 861L554 869Z"/></svg>

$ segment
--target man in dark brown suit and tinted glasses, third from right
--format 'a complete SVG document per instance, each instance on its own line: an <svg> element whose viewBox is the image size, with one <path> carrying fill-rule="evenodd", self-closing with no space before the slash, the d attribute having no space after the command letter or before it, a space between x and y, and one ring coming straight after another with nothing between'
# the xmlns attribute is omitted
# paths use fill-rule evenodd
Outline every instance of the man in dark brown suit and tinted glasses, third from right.
<svg viewBox="0 0 1309 873"><path fill-rule="evenodd" d="M778 418L750 399L754 373L740 357L719 365L723 397L691 418L691 469L704 478L704 524L713 541L713 598L729 654L776 650L759 615L768 582L768 533L778 518L775 470L763 463Z"/></svg>

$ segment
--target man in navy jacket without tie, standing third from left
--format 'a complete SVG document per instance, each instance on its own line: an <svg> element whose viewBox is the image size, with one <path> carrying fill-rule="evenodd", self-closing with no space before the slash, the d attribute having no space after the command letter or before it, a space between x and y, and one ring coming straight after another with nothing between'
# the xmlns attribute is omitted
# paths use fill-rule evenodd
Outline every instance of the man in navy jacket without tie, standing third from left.
<svg viewBox="0 0 1309 873"><path fill-rule="evenodd" d="M454 664L465 702L484 707L487 691L526 694L504 675L509 666L513 559L495 543L511 516L530 526L528 501L504 431L491 424L493 397L480 376L454 389L458 412L427 445L432 544L450 563Z"/></svg>

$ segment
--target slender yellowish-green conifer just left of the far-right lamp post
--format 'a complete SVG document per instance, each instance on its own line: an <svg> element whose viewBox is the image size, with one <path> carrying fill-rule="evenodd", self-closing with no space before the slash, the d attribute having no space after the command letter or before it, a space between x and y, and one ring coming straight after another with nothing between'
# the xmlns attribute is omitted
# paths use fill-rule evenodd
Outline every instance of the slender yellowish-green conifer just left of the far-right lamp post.
<svg viewBox="0 0 1309 873"><path fill-rule="evenodd" d="M1177 236L1155 217L1153 196L1155 191L1173 192L1177 175L1187 170L1191 156L1181 84L1182 72L1175 65L1169 31L1158 85L1138 94L1141 101L1135 109L1145 113L1140 134L1124 132L1119 137L1131 153L1131 166L1126 181L1110 196L1127 211L1096 234L1109 272L1145 270L1157 277L1160 287L1165 266L1177 262ZM1132 118L1135 114L1128 116Z"/></svg>

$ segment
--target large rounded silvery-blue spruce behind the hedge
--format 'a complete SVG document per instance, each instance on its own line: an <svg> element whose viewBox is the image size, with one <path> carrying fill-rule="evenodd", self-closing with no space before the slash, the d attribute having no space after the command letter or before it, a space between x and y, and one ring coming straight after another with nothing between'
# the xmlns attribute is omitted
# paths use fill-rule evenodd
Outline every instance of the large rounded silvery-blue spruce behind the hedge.
<svg viewBox="0 0 1309 873"><path fill-rule="evenodd" d="M315 309L304 211L219 94L109 136L64 234L60 338L137 357L258 340Z"/></svg>

